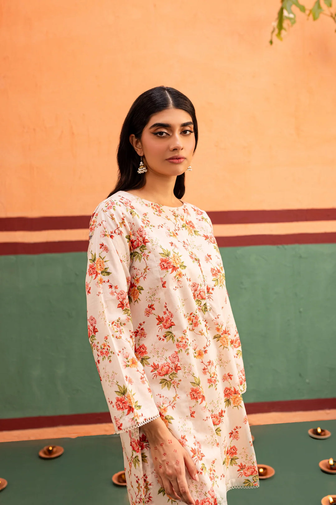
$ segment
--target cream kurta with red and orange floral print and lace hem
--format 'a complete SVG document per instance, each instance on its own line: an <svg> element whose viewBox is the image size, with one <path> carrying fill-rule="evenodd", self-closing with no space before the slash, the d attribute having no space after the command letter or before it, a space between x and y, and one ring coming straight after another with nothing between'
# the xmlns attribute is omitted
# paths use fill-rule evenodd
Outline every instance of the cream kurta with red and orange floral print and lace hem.
<svg viewBox="0 0 336 505"><path fill-rule="evenodd" d="M90 222L88 333L116 433L129 501L166 505L142 426L161 417L188 451L196 505L259 486L242 400L241 343L206 212L118 191Z"/></svg>

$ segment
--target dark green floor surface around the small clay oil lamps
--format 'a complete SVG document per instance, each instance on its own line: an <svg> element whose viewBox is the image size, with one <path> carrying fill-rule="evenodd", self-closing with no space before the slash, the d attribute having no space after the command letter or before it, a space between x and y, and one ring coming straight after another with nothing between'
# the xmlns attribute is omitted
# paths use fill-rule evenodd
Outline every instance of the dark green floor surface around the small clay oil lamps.
<svg viewBox="0 0 336 505"><path fill-rule="evenodd" d="M331 437L310 438L308 429L317 425ZM260 481L258 489L228 491L228 505L319 505L323 496L336 494L336 475L318 467L320 460L336 459L336 420L251 426L251 432L257 463L271 465L276 474ZM63 446L63 455L40 459L38 451L48 443ZM8 480L0 503L129 505L126 489L111 482L119 470L118 435L0 443L0 478Z"/></svg>

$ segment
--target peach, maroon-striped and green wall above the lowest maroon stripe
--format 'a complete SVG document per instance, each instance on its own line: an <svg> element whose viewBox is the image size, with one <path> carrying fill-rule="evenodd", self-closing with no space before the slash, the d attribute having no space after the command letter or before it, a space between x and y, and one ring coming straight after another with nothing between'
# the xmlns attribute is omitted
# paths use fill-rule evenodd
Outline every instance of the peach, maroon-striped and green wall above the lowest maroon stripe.
<svg viewBox="0 0 336 505"><path fill-rule="evenodd" d="M130 105L160 84L196 109L184 199L214 223L243 344L244 401L334 395L334 27L298 13L271 47L278 8L3 4L1 418L106 410L87 341L87 228L115 183Z"/></svg>

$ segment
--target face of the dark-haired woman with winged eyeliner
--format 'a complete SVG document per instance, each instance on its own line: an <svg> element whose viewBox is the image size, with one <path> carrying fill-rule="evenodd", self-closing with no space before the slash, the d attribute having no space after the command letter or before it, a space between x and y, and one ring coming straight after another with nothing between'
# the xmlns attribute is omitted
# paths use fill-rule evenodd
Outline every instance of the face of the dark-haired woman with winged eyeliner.
<svg viewBox="0 0 336 505"><path fill-rule="evenodd" d="M191 163L195 136L191 116L181 109L165 109L153 114L141 139L130 135L130 142L143 157L149 172L180 175ZM179 157L180 161L169 160Z"/></svg>

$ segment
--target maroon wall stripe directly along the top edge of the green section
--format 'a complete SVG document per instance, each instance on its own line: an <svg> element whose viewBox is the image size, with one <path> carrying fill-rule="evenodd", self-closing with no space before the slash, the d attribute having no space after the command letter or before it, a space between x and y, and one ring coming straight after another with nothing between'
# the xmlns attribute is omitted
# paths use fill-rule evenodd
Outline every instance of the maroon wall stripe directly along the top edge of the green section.
<svg viewBox="0 0 336 505"><path fill-rule="evenodd" d="M242 235L216 237L219 247L246 247L249 245L293 245L293 244L331 244L336 243L336 232L293 233L288 235ZM88 240L59 242L3 242L0 243L0 256L21 254L50 254L52 252L87 252Z"/></svg>

